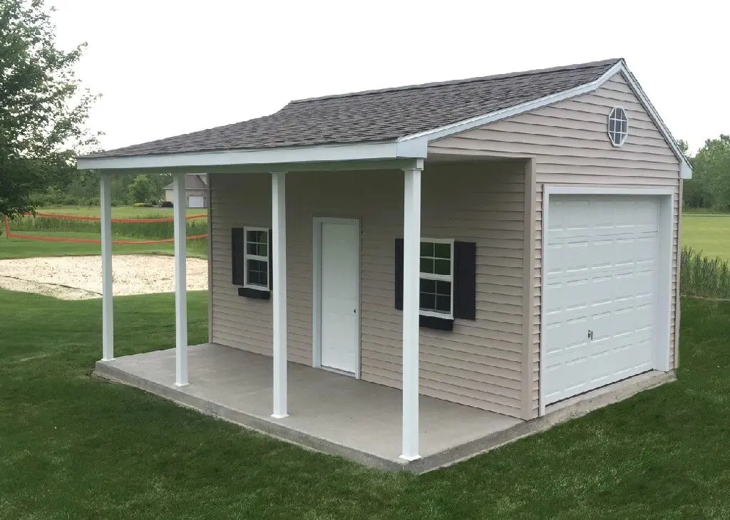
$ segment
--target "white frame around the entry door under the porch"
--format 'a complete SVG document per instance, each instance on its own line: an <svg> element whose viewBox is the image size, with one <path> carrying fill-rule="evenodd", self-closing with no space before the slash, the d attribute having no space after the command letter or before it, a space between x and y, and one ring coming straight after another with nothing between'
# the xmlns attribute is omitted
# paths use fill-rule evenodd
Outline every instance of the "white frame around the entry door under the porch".
<svg viewBox="0 0 730 520"><path fill-rule="evenodd" d="M342 373L347 376L353 374L342 372L334 368L322 366L322 225L325 223L339 223L354 225L357 241L357 273L358 279L356 284L356 301L358 317L355 327L355 344L357 346L357 363L355 366L355 379L360 379L361 368L361 335L360 335L360 315L361 302L360 291L362 284L361 273L361 236L360 236L360 219L358 218L340 218L340 217L314 217L312 219L312 367L330 370L332 372Z"/></svg>

